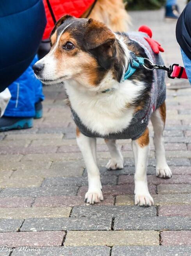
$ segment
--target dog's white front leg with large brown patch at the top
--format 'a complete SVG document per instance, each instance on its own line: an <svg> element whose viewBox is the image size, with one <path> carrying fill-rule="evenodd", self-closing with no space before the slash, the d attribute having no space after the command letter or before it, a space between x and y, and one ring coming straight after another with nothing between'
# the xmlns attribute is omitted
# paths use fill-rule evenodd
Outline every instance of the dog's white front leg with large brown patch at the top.
<svg viewBox="0 0 191 256"><path fill-rule="evenodd" d="M132 149L135 158L135 204L139 206L154 205L147 186L146 169L149 153L149 131L146 128L143 135L132 141Z"/></svg>

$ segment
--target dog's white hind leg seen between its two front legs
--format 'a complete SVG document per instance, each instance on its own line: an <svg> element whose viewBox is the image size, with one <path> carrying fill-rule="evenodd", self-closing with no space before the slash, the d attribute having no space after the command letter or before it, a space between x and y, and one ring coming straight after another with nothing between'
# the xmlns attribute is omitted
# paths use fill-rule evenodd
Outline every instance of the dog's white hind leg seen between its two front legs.
<svg viewBox="0 0 191 256"><path fill-rule="evenodd" d="M116 140L105 139L105 143L111 155L111 159L107 163L106 168L109 170L123 169L123 156Z"/></svg>

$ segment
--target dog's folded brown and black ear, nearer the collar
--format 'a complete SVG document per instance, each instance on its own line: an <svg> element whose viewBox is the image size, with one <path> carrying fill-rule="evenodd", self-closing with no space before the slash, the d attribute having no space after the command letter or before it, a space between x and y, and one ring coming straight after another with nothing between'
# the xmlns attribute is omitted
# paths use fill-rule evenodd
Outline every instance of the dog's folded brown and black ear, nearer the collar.
<svg viewBox="0 0 191 256"><path fill-rule="evenodd" d="M85 49L93 54L99 65L104 69L110 69L116 58L114 33L102 22L89 19L87 30L84 34Z"/></svg>

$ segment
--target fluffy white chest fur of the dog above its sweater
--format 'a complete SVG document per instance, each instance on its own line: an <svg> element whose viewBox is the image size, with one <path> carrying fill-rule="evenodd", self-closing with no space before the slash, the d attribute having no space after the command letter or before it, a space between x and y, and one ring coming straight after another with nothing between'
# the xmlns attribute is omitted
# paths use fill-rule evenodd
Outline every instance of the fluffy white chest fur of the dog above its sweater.
<svg viewBox="0 0 191 256"><path fill-rule="evenodd" d="M66 83L71 107L92 132L100 135L122 132L127 128L134 114L134 107L127 108L138 96L143 85L127 85L112 92L91 94Z"/></svg>

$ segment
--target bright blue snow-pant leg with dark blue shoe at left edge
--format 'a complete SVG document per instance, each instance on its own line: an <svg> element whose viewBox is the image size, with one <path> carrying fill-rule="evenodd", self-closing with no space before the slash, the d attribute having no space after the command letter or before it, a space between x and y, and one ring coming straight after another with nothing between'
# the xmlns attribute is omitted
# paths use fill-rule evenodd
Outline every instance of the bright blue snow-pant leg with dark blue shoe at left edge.
<svg viewBox="0 0 191 256"><path fill-rule="evenodd" d="M37 57L34 58L34 61L32 61L20 78L9 86L11 99L4 116L0 119L1 132L33 126L33 117L36 115L36 100L43 100L42 84L34 77L32 70L32 65L36 61ZM37 90L39 90L38 96L36 96Z"/></svg>

